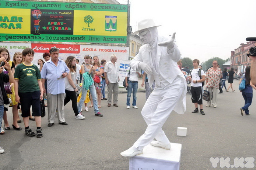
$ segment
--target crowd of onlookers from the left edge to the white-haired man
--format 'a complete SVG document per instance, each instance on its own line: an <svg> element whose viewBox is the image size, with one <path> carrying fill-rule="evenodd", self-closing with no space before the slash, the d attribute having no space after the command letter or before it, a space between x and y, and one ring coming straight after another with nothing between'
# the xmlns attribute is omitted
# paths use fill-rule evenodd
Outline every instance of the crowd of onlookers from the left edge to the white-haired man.
<svg viewBox="0 0 256 170"><path fill-rule="evenodd" d="M95 116L102 117L99 112L101 100L108 100L111 106L112 90L114 92L113 106L118 107L118 64L117 57L111 55L110 62L99 61L98 56L84 56L84 63L69 56L66 60L59 59L59 49L51 48L49 53L43 53L43 59L32 64L34 51L26 48L16 52L13 61L6 48L0 48L0 134L10 130L6 111L13 111L13 128L22 130L19 110L27 136L43 137L41 128L42 107L48 107L48 127L52 127L57 117L60 125L68 125L65 121L64 106L71 100L75 119L84 119L82 106L85 111L94 107ZM85 73L85 74L84 74ZM108 85L108 99L105 87ZM79 96L78 96L79 95ZM78 97L77 97L78 96ZM47 103L42 104L43 100ZM32 107L32 112L31 112ZM2 125L3 120L3 125ZM29 120L35 121L36 130L29 127ZM0 147L0 154L4 149Z"/></svg>

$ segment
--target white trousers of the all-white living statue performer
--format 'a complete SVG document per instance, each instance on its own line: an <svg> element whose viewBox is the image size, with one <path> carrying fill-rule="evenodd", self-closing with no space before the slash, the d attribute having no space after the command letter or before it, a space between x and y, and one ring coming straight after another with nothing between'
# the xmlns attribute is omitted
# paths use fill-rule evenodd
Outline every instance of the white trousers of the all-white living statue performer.
<svg viewBox="0 0 256 170"><path fill-rule="evenodd" d="M162 126L176 106L184 90L185 86L180 77L176 78L172 84L167 85L165 88L155 87L141 111L141 115L148 127L145 133L133 144L133 147L142 150L154 138L159 144L170 143L162 130Z"/></svg>

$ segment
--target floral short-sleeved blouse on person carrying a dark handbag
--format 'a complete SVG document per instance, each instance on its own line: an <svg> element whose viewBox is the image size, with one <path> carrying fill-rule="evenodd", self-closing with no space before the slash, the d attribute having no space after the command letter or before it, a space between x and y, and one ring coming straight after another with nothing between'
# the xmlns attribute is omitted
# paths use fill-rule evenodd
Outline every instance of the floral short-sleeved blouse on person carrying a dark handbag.
<svg viewBox="0 0 256 170"><path fill-rule="evenodd" d="M206 87L218 89L220 80L222 78L222 71L220 68L213 70L213 67L212 67L207 71L205 77L208 79Z"/></svg>

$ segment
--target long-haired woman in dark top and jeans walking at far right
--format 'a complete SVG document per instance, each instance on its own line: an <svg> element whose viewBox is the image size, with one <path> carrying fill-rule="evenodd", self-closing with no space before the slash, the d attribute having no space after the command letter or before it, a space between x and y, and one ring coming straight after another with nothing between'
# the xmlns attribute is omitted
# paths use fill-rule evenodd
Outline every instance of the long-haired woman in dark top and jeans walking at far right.
<svg viewBox="0 0 256 170"><path fill-rule="evenodd" d="M243 74L239 84L242 82L242 80L245 80L245 89L242 91L243 99L245 99L245 106L241 107L241 115L249 115L249 106L252 104L252 88L256 90L255 85L252 84L251 78L250 78L250 69L251 67L246 67L245 74Z"/></svg>

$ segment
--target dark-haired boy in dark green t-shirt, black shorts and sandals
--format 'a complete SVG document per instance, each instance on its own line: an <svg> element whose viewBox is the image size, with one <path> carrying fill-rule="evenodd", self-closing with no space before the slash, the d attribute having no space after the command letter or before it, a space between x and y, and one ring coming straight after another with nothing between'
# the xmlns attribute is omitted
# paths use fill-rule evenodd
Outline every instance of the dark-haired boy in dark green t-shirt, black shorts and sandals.
<svg viewBox="0 0 256 170"><path fill-rule="evenodd" d="M32 64L35 52L31 48L22 51L24 62L19 64L14 73L14 90L15 100L21 103L21 116L25 125L25 133L28 136L43 137L41 129L41 107L40 100L43 99L43 86L41 82L41 74L38 67ZM36 121L36 134L29 129L29 112L32 106L33 115Z"/></svg>

